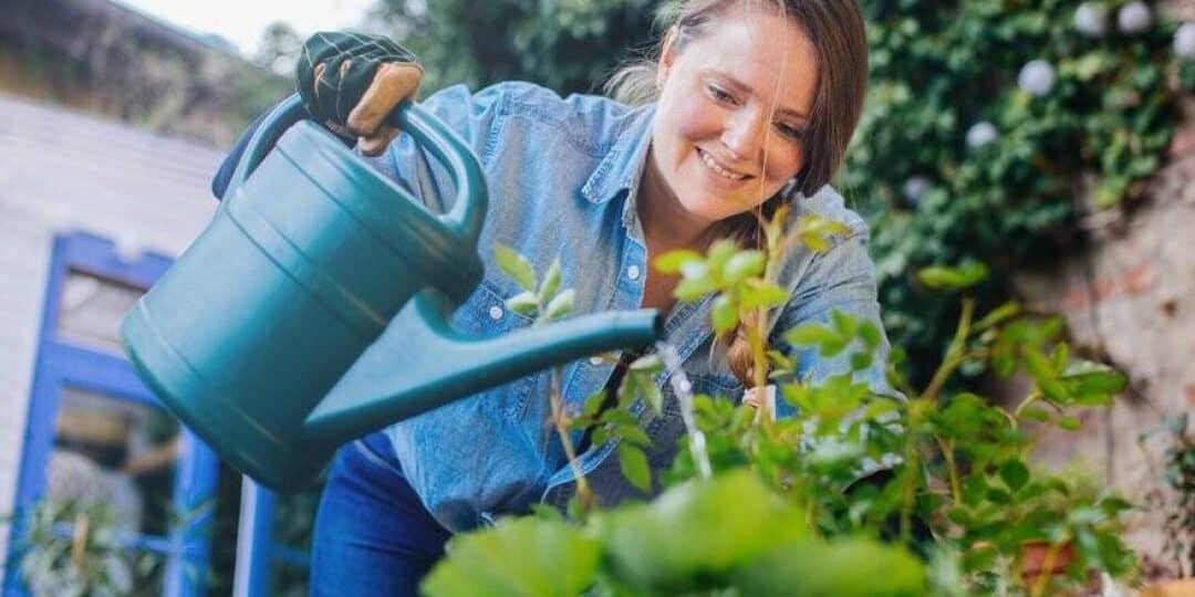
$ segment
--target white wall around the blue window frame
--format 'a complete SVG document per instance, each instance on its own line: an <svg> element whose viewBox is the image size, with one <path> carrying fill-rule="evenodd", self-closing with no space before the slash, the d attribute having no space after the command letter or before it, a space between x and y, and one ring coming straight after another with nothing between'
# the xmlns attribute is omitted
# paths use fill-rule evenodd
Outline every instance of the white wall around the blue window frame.
<svg viewBox="0 0 1195 597"><path fill-rule="evenodd" d="M54 235L177 256L221 152L0 96L0 515L12 510ZM0 528L0 561L8 530ZM0 571L2 574L2 571Z"/></svg>

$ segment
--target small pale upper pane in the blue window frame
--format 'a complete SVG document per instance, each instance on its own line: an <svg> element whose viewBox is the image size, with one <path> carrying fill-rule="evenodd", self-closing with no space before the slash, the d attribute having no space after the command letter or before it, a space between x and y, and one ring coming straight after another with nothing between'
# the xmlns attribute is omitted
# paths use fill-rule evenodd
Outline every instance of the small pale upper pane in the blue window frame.
<svg viewBox="0 0 1195 597"><path fill-rule="evenodd" d="M82 346L123 353L121 320L145 294L110 279L72 271L62 287L57 337Z"/></svg>

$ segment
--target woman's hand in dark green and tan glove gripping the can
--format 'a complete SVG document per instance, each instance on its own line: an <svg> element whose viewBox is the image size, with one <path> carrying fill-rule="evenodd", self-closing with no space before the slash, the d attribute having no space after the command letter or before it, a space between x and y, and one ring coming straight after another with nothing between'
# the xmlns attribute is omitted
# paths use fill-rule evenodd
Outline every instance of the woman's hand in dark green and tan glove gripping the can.
<svg viewBox="0 0 1195 597"><path fill-rule="evenodd" d="M332 133L378 155L398 135L382 123L400 101L413 97L423 68L415 55L382 37L319 32L304 43L295 85L304 107Z"/></svg>

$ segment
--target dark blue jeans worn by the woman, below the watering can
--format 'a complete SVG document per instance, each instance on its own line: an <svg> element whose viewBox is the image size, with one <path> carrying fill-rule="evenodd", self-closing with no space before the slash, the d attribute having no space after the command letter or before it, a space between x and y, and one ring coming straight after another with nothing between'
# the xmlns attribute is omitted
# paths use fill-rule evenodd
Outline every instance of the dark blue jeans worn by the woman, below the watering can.
<svg viewBox="0 0 1195 597"><path fill-rule="evenodd" d="M319 500L311 595L417 595L449 536L403 479L390 439L357 439L337 451Z"/></svg>

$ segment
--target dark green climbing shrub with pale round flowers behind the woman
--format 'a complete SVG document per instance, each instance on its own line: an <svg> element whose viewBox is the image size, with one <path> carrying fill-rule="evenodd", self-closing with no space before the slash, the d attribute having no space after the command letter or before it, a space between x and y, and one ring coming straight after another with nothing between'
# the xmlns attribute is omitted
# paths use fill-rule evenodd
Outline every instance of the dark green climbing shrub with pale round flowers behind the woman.
<svg viewBox="0 0 1195 597"><path fill-rule="evenodd" d="M1015 271L1081 242L1087 216L1124 211L1165 161L1195 61L1172 48L1178 23L1117 27L1127 1L862 4L870 96L841 189L872 224L885 327L924 380L957 304L909 272L986 261L975 296L994 307Z"/></svg>

